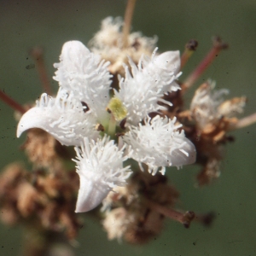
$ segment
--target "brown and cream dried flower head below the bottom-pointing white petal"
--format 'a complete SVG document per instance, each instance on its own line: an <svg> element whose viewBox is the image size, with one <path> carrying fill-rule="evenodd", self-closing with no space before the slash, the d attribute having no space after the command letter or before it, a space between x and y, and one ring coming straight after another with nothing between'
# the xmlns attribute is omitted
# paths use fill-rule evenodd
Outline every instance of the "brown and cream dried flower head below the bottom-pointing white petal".
<svg viewBox="0 0 256 256"><path fill-rule="evenodd" d="M108 238L141 244L159 235L165 218L155 206L173 207L178 197L166 181L160 174L137 172L125 188L110 192L102 207Z"/></svg>

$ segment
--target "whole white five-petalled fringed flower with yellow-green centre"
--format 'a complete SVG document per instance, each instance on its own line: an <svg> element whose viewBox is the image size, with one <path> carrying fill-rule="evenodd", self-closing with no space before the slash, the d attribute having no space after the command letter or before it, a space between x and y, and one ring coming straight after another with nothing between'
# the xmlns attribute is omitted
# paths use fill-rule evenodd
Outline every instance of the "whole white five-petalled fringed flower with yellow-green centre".
<svg viewBox="0 0 256 256"><path fill-rule="evenodd" d="M142 55L138 65L130 58L112 98L109 62L100 55L70 41L63 45L60 61L55 64L57 95L40 97L21 117L17 136L36 127L63 145L75 146L80 177L76 212L89 211L114 187L125 185L131 174L131 167L124 167L129 158L137 160L142 170L147 165L153 175L164 174L166 166L195 162L195 146L177 119L148 115L166 109L159 102L172 106L163 96L180 90L178 51L156 55L154 50L151 58ZM115 136L118 129L121 135Z"/></svg>

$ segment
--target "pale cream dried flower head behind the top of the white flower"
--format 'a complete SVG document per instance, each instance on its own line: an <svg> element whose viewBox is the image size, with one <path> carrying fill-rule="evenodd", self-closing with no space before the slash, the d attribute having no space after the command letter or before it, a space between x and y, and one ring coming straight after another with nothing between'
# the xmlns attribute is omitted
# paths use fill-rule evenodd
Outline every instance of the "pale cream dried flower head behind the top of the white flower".
<svg viewBox="0 0 256 256"><path fill-rule="evenodd" d="M122 26L124 21L118 17L108 17L102 20L102 27L90 40L91 50L102 56L102 60L110 61L110 73L124 73L123 63L128 62L127 55L138 63L142 55L151 55L158 40L143 37L141 32L132 32L128 36L127 45L123 40Z"/></svg>

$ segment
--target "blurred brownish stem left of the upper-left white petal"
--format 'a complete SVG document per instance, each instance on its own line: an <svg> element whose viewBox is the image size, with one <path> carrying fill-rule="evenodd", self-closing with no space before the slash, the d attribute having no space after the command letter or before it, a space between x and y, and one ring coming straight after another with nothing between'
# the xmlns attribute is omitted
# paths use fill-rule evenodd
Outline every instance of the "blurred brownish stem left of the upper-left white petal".
<svg viewBox="0 0 256 256"><path fill-rule="evenodd" d="M34 58L36 62L36 67L38 69L39 79L41 80L41 83L44 88L44 92L46 92L48 95L52 94L51 86L49 84L49 79L47 75L47 71L44 65L44 55L43 55L43 49L36 47L32 49L31 55Z"/></svg>

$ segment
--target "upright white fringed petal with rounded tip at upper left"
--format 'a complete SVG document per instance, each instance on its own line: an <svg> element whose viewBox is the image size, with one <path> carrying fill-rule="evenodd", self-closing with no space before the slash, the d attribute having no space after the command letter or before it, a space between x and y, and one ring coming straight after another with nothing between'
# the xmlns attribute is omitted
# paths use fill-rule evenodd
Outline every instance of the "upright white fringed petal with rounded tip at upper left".
<svg viewBox="0 0 256 256"><path fill-rule="evenodd" d="M81 102L104 119L105 108L109 101L109 89L112 75L108 72L109 62L101 61L79 41L69 41L63 45L60 63L55 63L54 79L63 89L73 91Z"/></svg>

